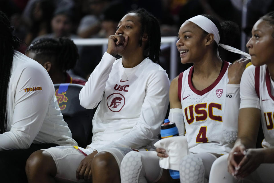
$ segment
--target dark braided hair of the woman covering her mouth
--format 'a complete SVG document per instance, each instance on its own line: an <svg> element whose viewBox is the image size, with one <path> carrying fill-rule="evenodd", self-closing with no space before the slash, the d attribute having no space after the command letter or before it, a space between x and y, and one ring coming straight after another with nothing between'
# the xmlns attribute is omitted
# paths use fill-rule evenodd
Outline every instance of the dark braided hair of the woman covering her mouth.
<svg viewBox="0 0 274 183"><path fill-rule="evenodd" d="M129 13L136 13L140 17L141 22L141 36L146 32L148 34L148 44L145 49L148 49L148 58L153 62L159 63L159 53L161 46L161 32L158 20L145 9L137 9L130 11ZM140 40L140 46L142 46L142 40Z"/></svg>

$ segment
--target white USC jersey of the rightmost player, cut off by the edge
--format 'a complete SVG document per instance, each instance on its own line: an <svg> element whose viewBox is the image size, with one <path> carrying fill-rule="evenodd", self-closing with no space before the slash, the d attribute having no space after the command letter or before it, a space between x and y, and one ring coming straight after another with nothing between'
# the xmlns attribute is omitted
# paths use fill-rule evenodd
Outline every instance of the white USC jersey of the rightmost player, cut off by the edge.
<svg viewBox="0 0 274 183"><path fill-rule="evenodd" d="M267 65L255 68L255 90L260 98L261 122L265 139L263 147L274 147L274 96L273 86ZM272 90L272 93L271 93Z"/></svg>

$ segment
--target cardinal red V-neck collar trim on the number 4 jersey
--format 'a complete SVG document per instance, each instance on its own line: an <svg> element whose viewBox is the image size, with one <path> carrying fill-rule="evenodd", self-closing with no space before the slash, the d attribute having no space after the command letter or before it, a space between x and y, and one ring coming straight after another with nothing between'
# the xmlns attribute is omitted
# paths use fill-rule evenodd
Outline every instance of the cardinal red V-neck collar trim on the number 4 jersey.
<svg viewBox="0 0 274 183"><path fill-rule="evenodd" d="M220 72L219 76L217 77L217 79L209 87L203 89L202 91L195 89L194 86L192 85L191 78L192 78L192 73L193 73L193 68L194 68L194 66L192 66L188 73L188 85L189 85L190 89L194 93L196 93L197 95L200 95L200 96L206 94L207 92L209 92L211 89L213 89L219 83L219 81L222 79L223 75L225 74L228 65L229 65L229 63L227 61L224 61L223 67L221 68L221 72Z"/></svg>

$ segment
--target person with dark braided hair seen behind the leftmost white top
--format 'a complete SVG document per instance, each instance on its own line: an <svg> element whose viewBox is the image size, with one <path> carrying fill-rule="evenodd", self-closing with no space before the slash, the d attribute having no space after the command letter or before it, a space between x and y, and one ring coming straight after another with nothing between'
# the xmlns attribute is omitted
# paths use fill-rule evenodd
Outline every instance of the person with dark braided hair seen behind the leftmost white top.
<svg viewBox="0 0 274 183"><path fill-rule="evenodd" d="M85 85L86 83L81 79L72 79L66 72L73 69L79 58L78 49L69 38L38 39L29 46L26 55L43 65L48 71L53 84L75 83Z"/></svg>

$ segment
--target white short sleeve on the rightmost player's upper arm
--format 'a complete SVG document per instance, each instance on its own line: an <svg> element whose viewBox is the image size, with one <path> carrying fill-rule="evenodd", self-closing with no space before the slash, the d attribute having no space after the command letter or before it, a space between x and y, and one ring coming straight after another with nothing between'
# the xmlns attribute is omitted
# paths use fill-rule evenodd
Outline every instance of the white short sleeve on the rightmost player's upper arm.
<svg viewBox="0 0 274 183"><path fill-rule="evenodd" d="M245 69L240 84L241 108L258 108L260 99L255 91L255 66L251 65Z"/></svg>

